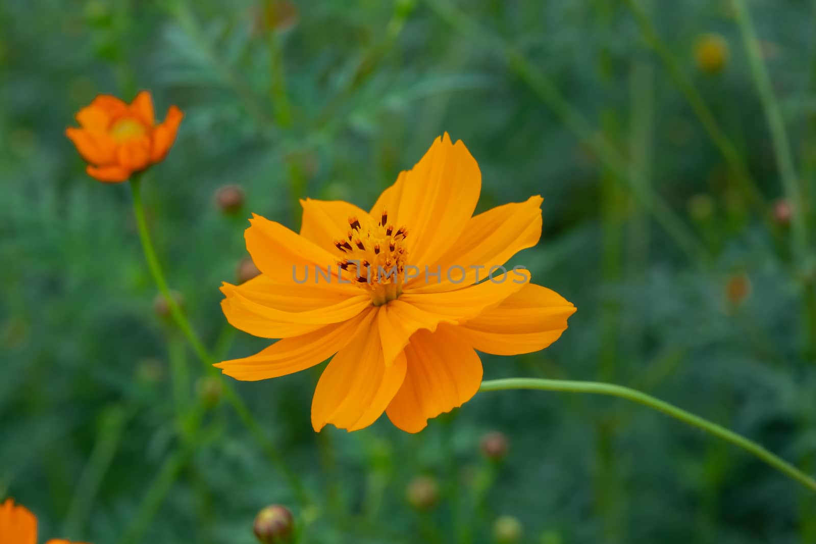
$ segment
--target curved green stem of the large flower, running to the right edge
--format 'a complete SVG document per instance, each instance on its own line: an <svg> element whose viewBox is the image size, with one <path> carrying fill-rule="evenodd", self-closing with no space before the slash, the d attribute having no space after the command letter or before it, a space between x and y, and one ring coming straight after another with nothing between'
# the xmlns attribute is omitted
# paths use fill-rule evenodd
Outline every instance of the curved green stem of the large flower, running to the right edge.
<svg viewBox="0 0 816 544"><path fill-rule="evenodd" d="M641 391L630 389L611 383L600 382L576 382L572 380L550 380L539 378L505 378L497 380L488 380L481 383L479 391L504 391L508 389L539 389L542 391L565 391L571 393L591 393L596 395L618 396L622 399L631 400L641 405L648 406L667 416L685 422L692 427L697 427L702 431L706 431L712 436L716 436L726 442L730 442L739 448L744 449L748 453L752 453L757 458L774 467L776 470L782 472L788 477L796 480L806 488L816 492L816 480L794 467L791 463L778 458L774 453L770 453L760 444L756 444L752 440L748 440L744 436L738 435L734 431L729 431L725 427L721 427L716 423L712 423L707 419L700 418L684 409L677 408L674 405L654 398L654 396L646 395Z"/></svg>

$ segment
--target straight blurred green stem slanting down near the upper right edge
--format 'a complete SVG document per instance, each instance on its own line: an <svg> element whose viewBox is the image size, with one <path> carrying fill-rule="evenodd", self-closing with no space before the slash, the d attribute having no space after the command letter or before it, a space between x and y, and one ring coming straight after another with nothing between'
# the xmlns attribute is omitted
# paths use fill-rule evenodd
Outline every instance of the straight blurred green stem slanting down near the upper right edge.
<svg viewBox="0 0 816 544"><path fill-rule="evenodd" d="M734 11L736 11L737 15L739 32L743 36L743 43L748 55L748 64L751 67L756 91L759 93L762 107L765 109L765 117L768 122L771 141L774 145L774 154L776 155L785 196L791 206L798 206L798 203L802 201L799 177L796 174L796 166L794 166L793 163L793 153L791 151L791 144L787 139L782 111L774 95L774 88L771 86L768 69L762 60L760 43L756 38L756 30L754 29L751 18L751 11L748 10L745 0L734 0ZM808 259L807 227L803 210L795 210L791 222L793 254L797 255L799 259Z"/></svg>

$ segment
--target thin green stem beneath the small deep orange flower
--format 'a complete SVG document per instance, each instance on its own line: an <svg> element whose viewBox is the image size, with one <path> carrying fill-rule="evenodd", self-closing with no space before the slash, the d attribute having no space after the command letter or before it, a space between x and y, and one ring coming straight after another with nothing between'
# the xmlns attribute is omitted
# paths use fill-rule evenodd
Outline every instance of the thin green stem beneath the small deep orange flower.
<svg viewBox="0 0 816 544"><path fill-rule="evenodd" d="M294 489L295 493L297 493L299 500L304 504L308 504L310 500L303 484L300 483L297 475L295 475L295 473L286 466L286 462L282 458L282 455L277 451L272 442L268 440L263 428L260 427L258 422L255 421L255 418L252 417L250 410L246 407L246 404L244 404L241 397L237 395L233 387L227 383L221 374L219 374L215 369L213 366L215 360L212 358L210 353L207 352L206 347L204 347L201 339L198 338L197 334L193 330L193 327L187 320L187 317L184 316L184 312L181 312L181 308L177 303L175 303L175 299L173 299L171 296L170 288L167 286L164 272L162 272L162 267L158 263L156 250L153 249L153 241L150 238L147 222L144 219L144 206L142 206L140 184L140 175L135 175L133 179L131 179L133 212L136 218L136 225L139 230L142 250L144 251L144 259L146 259L148 262L150 272L153 274L153 281L156 282L159 292L167 300L167 306L170 308L170 314L173 321L175 321L175 325L179 327L182 334L184 334L184 338L187 338L188 343L191 347L193 347L193 351L196 353L196 356L205 366L206 372L218 377L221 380L227 400L229 401L230 405L233 406L238 418L241 419L244 426L250 431L252 437L261 445L262 448L264 448L269 458L277 466L278 470L282 471L283 475L286 477L286 480L288 480L289 484L292 486L292 489Z"/></svg>

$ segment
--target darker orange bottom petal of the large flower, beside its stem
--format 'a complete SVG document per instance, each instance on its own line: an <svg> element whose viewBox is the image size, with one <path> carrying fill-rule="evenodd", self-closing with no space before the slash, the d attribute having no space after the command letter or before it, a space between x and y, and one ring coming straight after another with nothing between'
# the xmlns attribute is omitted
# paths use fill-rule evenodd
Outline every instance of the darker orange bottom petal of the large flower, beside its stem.
<svg viewBox="0 0 816 544"><path fill-rule="evenodd" d="M457 408L476 395L481 360L450 325L436 332L419 330L406 346L406 378L388 405L391 422L403 431L419 432L428 418Z"/></svg>

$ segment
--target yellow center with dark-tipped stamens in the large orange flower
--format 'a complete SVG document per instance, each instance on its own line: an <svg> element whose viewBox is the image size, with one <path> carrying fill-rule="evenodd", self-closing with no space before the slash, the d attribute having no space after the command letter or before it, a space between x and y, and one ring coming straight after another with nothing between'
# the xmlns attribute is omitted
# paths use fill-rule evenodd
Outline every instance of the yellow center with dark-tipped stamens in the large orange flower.
<svg viewBox="0 0 816 544"><path fill-rule="evenodd" d="M402 294L408 252L405 227L394 228L383 211L379 222L348 218L348 232L335 247L344 253L340 268L353 275L353 281L371 295L375 306L382 306Z"/></svg>

